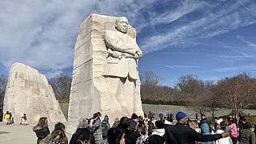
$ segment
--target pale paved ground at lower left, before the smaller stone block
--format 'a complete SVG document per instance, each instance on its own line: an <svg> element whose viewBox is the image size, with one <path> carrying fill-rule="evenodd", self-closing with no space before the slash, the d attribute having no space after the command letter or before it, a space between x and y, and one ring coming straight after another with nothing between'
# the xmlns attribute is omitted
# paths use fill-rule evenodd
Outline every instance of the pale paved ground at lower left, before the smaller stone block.
<svg viewBox="0 0 256 144"><path fill-rule="evenodd" d="M64 123L66 125L66 123ZM55 123L49 123L50 131L54 130ZM0 143L1 144L36 144L37 137L32 130L34 124L23 125L6 125L0 122ZM70 140L71 134L66 134Z"/></svg>

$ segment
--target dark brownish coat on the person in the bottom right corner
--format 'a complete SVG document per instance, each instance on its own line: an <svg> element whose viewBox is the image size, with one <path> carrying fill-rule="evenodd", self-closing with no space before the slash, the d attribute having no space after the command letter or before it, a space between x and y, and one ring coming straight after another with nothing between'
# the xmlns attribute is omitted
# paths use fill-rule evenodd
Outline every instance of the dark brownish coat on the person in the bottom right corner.
<svg viewBox="0 0 256 144"><path fill-rule="evenodd" d="M241 130L239 134L239 144L255 144L255 134L250 129Z"/></svg>

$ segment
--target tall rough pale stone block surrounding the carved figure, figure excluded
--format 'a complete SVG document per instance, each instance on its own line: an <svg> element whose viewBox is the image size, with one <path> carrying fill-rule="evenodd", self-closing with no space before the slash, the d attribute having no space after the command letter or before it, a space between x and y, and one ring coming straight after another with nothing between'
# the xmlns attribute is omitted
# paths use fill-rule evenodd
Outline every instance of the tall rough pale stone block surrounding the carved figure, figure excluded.
<svg viewBox="0 0 256 144"><path fill-rule="evenodd" d="M73 133L78 126L79 118L92 118L98 111L104 117L107 114L110 122L132 113L142 115L140 99L140 81L135 83L136 89L127 93L126 98L134 95L128 113L120 113L116 106L120 105L111 96L111 87L107 85L104 70L108 51L103 39L105 30L115 30L117 17L91 14L82 22L78 31L77 42L74 46L74 69L70 91L70 106L68 112L67 132ZM134 28L128 26L127 34L135 38ZM124 99L126 101L126 99Z"/></svg>

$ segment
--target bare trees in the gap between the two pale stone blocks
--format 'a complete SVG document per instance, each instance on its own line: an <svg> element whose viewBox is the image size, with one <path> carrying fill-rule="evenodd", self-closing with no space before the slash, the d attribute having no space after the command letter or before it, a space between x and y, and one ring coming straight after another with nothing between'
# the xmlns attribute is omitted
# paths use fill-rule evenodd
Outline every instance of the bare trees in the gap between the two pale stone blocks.
<svg viewBox="0 0 256 144"><path fill-rule="evenodd" d="M52 86L54 90L56 99L70 98L71 81L72 78L63 74L57 74L54 76L54 78L49 80L50 86Z"/></svg>

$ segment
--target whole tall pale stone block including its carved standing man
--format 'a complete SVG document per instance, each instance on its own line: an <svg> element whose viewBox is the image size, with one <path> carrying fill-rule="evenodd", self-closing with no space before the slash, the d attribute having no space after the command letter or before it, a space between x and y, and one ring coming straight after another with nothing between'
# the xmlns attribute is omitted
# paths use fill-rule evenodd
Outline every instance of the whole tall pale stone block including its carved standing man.
<svg viewBox="0 0 256 144"><path fill-rule="evenodd" d="M74 69L67 131L79 118L96 112L114 118L142 115L138 58L142 51L126 18L91 14L80 26L74 46Z"/></svg>

